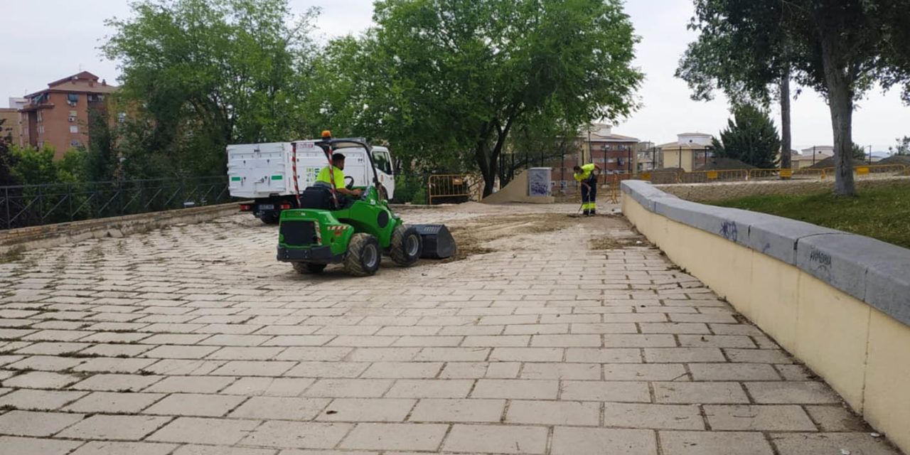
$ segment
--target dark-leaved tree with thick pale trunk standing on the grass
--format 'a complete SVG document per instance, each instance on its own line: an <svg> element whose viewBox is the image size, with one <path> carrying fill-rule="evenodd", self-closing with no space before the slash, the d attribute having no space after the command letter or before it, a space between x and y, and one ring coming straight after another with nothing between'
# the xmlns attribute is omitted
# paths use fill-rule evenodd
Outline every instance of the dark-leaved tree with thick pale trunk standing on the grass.
<svg viewBox="0 0 910 455"><path fill-rule="evenodd" d="M794 80L827 99L834 130L834 193L855 195L854 100L878 82L885 88L903 86L910 102L905 22L910 0L696 0L695 5L693 25L703 35L748 36L755 47L733 48L754 52L759 62L768 59L771 68L785 56ZM781 43L787 45L785 54L777 52Z"/></svg>

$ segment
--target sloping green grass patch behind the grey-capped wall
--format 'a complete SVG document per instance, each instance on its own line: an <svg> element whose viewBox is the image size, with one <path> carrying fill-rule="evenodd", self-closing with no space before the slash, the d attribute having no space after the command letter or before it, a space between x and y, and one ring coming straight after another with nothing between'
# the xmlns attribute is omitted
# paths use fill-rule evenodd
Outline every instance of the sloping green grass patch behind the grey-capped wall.
<svg viewBox="0 0 910 455"><path fill-rule="evenodd" d="M910 248L910 229L907 228L910 184L907 183L864 189L858 197L836 197L825 192L743 197L714 205L798 219Z"/></svg>

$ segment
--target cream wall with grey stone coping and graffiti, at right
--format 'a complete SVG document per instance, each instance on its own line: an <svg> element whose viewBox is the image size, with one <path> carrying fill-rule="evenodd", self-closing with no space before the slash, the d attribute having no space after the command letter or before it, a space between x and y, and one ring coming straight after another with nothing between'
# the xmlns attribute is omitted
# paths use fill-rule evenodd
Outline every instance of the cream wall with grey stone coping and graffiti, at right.
<svg viewBox="0 0 910 455"><path fill-rule="evenodd" d="M910 250L640 180L622 183L622 212L910 451Z"/></svg>

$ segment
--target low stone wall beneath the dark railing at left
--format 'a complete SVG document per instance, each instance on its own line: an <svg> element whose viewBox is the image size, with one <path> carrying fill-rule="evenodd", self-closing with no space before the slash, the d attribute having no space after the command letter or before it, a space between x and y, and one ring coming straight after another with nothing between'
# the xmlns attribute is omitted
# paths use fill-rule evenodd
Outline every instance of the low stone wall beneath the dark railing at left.
<svg viewBox="0 0 910 455"><path fill-rule="evenodd" d="M238 204L208 207L178 208L126 217L107 217L59 223L54 225L20 227L0 231L0 255L10 251L49 248L86 238L123 237L158 227L178 223L200 223L238 212Z"/></svg>

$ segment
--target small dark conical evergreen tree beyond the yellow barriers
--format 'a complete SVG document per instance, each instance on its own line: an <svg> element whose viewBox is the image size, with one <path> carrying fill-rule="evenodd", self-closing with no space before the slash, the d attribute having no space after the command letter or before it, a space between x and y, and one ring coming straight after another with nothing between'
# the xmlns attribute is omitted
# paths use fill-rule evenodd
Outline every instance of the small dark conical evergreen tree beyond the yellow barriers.
<svg viewBox="0 0 910 455"><path fill-rule="evenodd" d="M766 111L750 104L733 107L733 118L720 136L720 141L713 139L718 157L738 159L764 169L777 166L781 139Z"/></svg>

